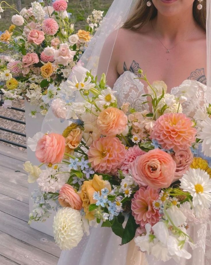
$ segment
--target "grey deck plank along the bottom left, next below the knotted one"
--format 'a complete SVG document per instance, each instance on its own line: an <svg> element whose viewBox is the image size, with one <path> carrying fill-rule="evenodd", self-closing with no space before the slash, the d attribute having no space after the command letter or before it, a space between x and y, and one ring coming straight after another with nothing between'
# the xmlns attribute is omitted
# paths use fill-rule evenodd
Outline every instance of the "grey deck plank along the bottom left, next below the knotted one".
<svg viewBox="0 0 211 265"><path fill-rule="evenodd" d="M0 232L0 255L20 265L56 265L58 258Z"/></svg>

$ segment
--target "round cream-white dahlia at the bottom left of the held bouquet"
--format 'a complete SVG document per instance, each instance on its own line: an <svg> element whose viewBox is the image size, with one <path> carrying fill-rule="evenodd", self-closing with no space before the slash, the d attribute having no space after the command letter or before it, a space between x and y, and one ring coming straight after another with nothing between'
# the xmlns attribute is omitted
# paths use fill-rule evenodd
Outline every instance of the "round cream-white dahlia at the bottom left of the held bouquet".
<svg viewBox="0 0 211 265"><path fill-rule="evenodd" d="M80 212L70 207L60 209L54 217L53 233L61 250L76 247L84 235Z"/></svg>

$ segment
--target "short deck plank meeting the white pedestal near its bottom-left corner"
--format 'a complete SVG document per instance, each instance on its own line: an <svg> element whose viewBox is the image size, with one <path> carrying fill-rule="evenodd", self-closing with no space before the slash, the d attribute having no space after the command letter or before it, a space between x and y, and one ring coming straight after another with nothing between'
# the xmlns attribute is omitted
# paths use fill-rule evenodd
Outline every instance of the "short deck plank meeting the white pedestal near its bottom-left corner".
<svg viewBox="0 0 211 265"><path fill-rule="evenodd" d="M29 206L24 202L0 194L0 211L28 222Z"/></svg>

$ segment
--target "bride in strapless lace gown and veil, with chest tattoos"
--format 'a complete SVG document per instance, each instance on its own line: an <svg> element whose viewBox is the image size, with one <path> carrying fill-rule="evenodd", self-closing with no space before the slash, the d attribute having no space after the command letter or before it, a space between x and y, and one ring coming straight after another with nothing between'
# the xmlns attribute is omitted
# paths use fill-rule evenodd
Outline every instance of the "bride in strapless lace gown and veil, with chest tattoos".
<svg viewBox="0 0 211 265"><path fill-rule="evenodd" d="M145 84L135 79L141 68L150 82L163 80L168 93L176 93L181 83L194 83L195 95L188 101L186 114L196 108L204 109L206 4L209 7L210 1L207 2L115 0L81 62L92 69L92 74L106 73L107 84L117 91L119 102L129 102L133 108L140 109L142 95L146 93ZM197 243L204 241L198 243L191 260L177 265L211 264L209 249L206 254L203 251L206 224L193 230ZM211 240L207 242L206 247L211 247ZM120 243L121 239L110 228L93 227L77 248L62 252L58 265L176 265L174 260L160 262L146 256L136 249L134 241L123 246Z"/></svg>

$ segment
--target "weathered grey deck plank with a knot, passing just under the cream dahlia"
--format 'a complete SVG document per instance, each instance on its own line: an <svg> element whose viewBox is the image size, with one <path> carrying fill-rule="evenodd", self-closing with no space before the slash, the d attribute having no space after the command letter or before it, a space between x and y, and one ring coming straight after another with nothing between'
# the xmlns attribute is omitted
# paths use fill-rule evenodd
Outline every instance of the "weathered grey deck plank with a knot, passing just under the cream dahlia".
<svg viewBox="0 0 211 265"><path fill-rule="evenodd" d="M54 256L59 257L61 254L53 237L31 228L27 222L3 212L0 212L0 231Z"/></svg>

